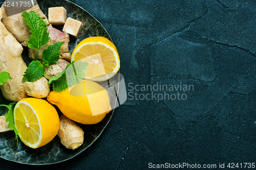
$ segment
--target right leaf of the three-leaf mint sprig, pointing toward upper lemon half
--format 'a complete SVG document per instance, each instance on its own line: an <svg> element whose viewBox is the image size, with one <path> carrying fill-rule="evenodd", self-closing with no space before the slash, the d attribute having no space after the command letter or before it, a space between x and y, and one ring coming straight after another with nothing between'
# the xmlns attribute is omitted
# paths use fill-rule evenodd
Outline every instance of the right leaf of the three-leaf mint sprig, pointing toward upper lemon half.
<svg viewBox="0 0 256 170"><path fill-rule="evenodd" d="M57 63L57 61L59 60L59 50L63 43L64 41L56 42L48 46L47 49L44 52L42 52L42 60L44 60L42 64L49 67L49 64Z"/></svg>

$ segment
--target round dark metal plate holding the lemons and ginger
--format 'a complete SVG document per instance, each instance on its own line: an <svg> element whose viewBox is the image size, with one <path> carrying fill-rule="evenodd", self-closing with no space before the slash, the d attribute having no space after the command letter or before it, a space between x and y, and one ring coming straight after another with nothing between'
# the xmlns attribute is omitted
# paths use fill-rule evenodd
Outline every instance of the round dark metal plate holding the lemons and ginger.
<svg viewBox="0 0 256 170"><path fill-rule="evenodd" d="M79 37L73 38L70 37L70 46L69 51L70 53L73 52L75 46L84 38L92 37L92 36L102 36L106 37L111 40L110 35L106 32L104 27L96 20L90 13L86 10L82 9L81 7L77 6L76 4L65 1L65 0L58 0L58 1L48 1L48 0L40 0L37 1L39 4L40 9L48 16L48 8L49 7L59 7L62 6L67 10L67 17L71 17L77 19L83 23L83 28ZM0 4L2 6L2 3ZM62 30L62 27L55 27L59 30ZM111 40L112 41L112 40ZM26 51L26 50L25 50ZM25 52L26 53L26 52ZM28 57L24 56L24 60L28 62ZM108 87L108 84L116 84L119 81L119 76L115 76L109 80L109 82L101 82L100 84L105 88ZM113 95L110 94L110 98L113 98ZM1 104L8 104L10 103L7 101L2 93L0 93L0 103ZM112 104L113 106L113 104ZM114 107L112 107L114 108ZM57 109L57 108L56 108ZM57 109L58 110L58 109ZM0 108L0 115L4 115L6 113L6 108ZM55 136L55 138L48 144L38 149L31 149L27 147L22 141L19 140L18 147L15 141L15 134L13 131L0 133L0 157L15 161L18 163L24 164L34 164L34 165L41 165L41 164L53 164L57 162L62 162L68 159L71 159L84 150L86 150L90 145L100 136L106 125L108 125L112 114L112 110L110 113L106 114L105 118L98 124L95 125L82 125L78 124L84 131L84 142L76 150L66 149L59 141L59 138ZM58 110L59 112L59 110ZM61 114L59 112L59 114Z"/></svg>

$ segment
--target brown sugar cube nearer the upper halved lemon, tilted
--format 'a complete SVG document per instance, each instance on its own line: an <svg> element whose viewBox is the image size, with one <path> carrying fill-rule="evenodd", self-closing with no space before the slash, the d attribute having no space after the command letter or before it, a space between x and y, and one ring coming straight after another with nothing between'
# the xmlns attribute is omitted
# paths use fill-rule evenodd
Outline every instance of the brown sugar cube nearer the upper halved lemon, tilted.
<svg viewBox="0 0 256 170"><path fill-rule="evenodd" d="M77 38L81 29L82 29L82 22L73 18L68 18L65 22L65 25L62 31Z"/></svg>

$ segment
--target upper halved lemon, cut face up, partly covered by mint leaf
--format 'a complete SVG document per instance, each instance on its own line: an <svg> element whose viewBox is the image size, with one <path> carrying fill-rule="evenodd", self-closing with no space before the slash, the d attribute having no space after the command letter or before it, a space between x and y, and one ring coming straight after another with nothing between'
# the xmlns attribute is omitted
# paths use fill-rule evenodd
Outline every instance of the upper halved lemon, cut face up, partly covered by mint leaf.
<svg viewBox="0 0 256 170"><path fill-rule="evenodd" d="M82 40L74 49L71 62L88 62L86 77L92 81L112 78L120 68L116 46L104 37L89 37Z"/></svg>

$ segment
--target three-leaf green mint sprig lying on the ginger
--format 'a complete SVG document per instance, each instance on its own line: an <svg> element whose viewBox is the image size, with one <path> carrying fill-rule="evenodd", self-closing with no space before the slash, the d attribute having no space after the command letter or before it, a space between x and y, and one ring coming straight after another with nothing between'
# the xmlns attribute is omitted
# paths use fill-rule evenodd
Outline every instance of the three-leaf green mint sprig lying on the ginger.
<svg viewBox="0 0 256 170"><path fill-rule="evenodd" d="M30 35L30 39L27 41L28 47L36 49L36 60L29 64L22 80L33 82L45 75L44 65L49 67L49 64L57 63L59 60L59 50L64 41L56 42L48 46L47 49L42 52L43 62L41 63L37 60L38 51L41 46L46 45L50 39L49 33L47 33L47 23L34 11L30 11L29 13L25 11L22 13L22 15L24 16L23 18L30 28L30 32L32 33Z"/></svg>

